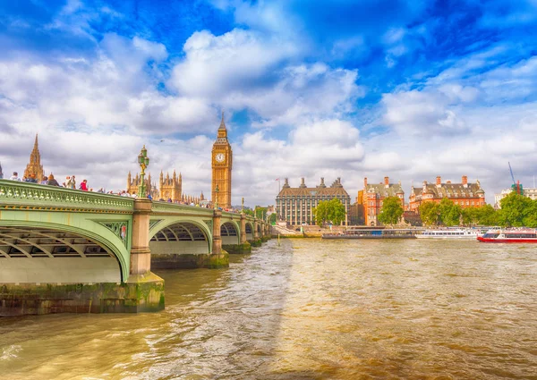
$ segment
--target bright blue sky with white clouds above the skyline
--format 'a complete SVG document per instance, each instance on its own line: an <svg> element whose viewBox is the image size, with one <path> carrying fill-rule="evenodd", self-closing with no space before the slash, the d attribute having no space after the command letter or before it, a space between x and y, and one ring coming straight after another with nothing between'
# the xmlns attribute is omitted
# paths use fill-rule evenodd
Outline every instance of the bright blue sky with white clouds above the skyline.
<svg viewBox="0 0 537 380"><path fill-rule="evenodd" d="M122 190L145 144L154 178L210 194L221 112L232 203L308 186L537 174L537 0L0 2L0 163Z"/></svg>

